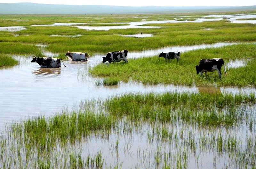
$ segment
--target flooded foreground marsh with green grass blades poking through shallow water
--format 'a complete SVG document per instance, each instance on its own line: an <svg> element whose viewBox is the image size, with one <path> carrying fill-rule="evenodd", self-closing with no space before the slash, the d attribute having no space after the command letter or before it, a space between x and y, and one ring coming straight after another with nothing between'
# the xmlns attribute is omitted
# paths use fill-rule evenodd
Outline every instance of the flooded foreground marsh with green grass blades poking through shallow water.
<svg viewBox="0 0 256 169"><path fill-rule="evenodd" d="M189 168L203 154L214 154L207 158L213 161L208 166L253 168L255 135L242 131L254 131L255 101L253 93L173 92L81 102L71 112L63 109L49 118L28 118L6 126L0 137L0 163L11 168L120 168L123 163L128 166L121 154L128 158L137 154L138 164L130 166L143 161L147 167ZM145 145L137 145L132 138ZM103 143L92 151L90 140L94 139ZM108 152L113 155L107 156ZM191 163L194 157L195 164Z"/></svg>

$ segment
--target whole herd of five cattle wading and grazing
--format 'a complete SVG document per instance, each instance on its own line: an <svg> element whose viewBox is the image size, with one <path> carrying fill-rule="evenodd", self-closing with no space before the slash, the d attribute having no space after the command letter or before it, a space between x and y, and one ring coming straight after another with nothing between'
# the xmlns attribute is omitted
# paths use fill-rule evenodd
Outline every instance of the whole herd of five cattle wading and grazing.
<svg viewBox="0 0 256 169"><path fill-rule="evenodd" d="M81 52L67 52L65 56L68 56L72 61L87 61L87 57L90 57L90 55L86 53L81 53ZM175 52L169 52L169 53L163 53L161 52L158 57L164 57L164 59L177 59L177 62L180 60L180 52L175 53ZM105 57L102 57L103 61L102 63L105 62L120 62L124 61L128 63L128 51L127 50L122 50L122 51L115 51L115 52L108 52L108 54ZM34 59L31 62L36 62L38 63L42 68L59 68L61 67L60 65L60 60L62 59L57 59L57 58L52 58L52 57L34 57ZM63 61L62 61L63 63ZM64 65L64 63L63 63ZM224 66L224 72L227 75L227 72L225 70L225 64L223 59L221 58L214 58L214 59L201 59L199 64L196 65L196 73L202 74L205 72L205 76L207 77L207 72L212 72L217 70L219 77L221 78L221 67L222 65ZM65 65L64 65L65 66ZM65 66L66 67L66 66Z"/></svg>

